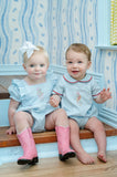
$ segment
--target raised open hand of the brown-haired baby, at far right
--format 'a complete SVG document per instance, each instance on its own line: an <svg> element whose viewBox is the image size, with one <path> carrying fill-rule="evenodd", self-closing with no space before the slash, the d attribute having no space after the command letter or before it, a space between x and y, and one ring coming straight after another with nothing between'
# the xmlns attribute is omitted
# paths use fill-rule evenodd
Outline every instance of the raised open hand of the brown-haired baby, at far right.
<svg viewBox="0 0 117 177"><path fill-rule="evenodd" d="M100 92L100 98L102 98L102 102L106 102L108 98L111 98L111 93L109 92L109 88L104 88L102 92Z"/></svg>

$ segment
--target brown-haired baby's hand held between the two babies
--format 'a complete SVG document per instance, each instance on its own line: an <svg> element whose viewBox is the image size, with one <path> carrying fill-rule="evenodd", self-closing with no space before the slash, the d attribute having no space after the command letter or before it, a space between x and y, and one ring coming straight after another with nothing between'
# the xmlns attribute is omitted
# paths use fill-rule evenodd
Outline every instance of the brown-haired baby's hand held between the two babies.
<svg viewBox="0 0 117 177"><path fill-rule="evenodd" d="M50 104L53 107L57 107L60 104L61 97L59 95L53 95L50 97Z"/></svg>

